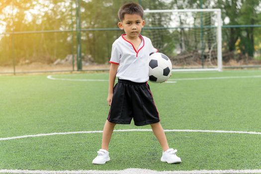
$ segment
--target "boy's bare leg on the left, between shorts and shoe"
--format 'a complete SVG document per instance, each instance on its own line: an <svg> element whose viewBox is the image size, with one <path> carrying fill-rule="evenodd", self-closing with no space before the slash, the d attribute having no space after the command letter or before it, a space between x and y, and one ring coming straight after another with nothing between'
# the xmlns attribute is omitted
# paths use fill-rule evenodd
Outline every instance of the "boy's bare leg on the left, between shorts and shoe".
<svg viewBox="0 0 261 174"><path fill-rule="evenodd" d="M106 120L102 133L101 149L108 151L111 135L115 125L115 123L111 123Z"/></svg>

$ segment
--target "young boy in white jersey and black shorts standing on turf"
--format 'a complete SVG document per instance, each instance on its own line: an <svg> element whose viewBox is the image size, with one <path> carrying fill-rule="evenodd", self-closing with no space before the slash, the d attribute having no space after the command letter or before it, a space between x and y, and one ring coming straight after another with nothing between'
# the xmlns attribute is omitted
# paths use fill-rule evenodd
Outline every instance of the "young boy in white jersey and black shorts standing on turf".
<svg viewBox="0 0 261 174"><path fill-rule="evenodd" d="M130 124L132 118L136 126L151 125L163 149L162 162L181 163L180 158L175 155L177 151L169 148L147 84L149 56L155 52L155 48L149 38L140 35L145 25L143 8L137 3L126 3L119 9L118 17L118 27L125 34L112 44L107 98L110 110L103 128L101 149L92 164L102 165L110 161L108 146L114 126ZM116 77L118 83L113 88Z"/></svg>

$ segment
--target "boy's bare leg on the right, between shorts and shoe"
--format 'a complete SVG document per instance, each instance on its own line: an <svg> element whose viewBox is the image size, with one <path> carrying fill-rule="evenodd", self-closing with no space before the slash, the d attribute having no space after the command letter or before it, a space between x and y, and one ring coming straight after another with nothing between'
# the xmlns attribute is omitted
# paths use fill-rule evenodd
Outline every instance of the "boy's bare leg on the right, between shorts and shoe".
<svg viewBox="0 0 261 174"><path fill-rule="evenodd" d="M167 151L168 149L170 149L170 147L168 145L167 137L161 126L161 123L158 122L158 123L151 124L151 128L153 130L154 135L160 142L163 151Z"/></svg>

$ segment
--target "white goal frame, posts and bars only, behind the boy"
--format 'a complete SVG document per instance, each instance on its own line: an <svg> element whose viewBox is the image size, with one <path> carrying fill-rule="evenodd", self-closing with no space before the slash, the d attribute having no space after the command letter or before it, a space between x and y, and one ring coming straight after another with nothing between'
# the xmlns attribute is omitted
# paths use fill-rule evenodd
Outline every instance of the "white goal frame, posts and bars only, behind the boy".
<svg viewBox="0 0 261 174"><path fill-rule="evenodd" d="M217 12L217 68L199 68L199 69L173 69L174 72L180 71L219 71L222 72L222 19L221 9L163 9L163 10L144 10L144 13L158 13L158 12Z"/></svg>

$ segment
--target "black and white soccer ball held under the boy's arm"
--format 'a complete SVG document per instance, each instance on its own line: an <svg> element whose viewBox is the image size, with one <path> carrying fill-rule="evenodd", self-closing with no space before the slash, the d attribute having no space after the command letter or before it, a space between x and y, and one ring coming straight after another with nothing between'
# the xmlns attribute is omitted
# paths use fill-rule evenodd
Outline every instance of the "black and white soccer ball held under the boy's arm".
<svg viewBox="0 0 261 174"><path fill-rule="evenodd" d="M149 67L149 80L153 83L163 83L172 75L172 62L165 54L151 54Z"/></svg>

